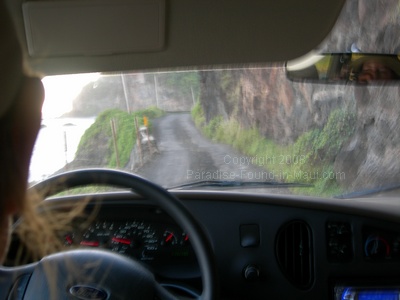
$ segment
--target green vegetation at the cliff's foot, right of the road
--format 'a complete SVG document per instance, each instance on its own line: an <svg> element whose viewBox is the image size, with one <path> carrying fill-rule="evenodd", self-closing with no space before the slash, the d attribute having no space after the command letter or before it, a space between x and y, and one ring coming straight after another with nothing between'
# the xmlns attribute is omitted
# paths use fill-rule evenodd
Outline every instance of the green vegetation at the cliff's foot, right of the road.
<svg viewBox="0 0 400 300"><path fill-rule="evenodd" d="M203 109L197 103L192 110L195 124L204 135L233 146L252 159L253 164L265 167L277 180L311 183L313 189L294 189L293 192L332 196L342 191L333 162L343 143L354 133L356 115L347 109L331 112L323 128L302 134L292 145L281 146L263 137L258 129L245 129L236 120L217 116L206 123Z"/></svg>

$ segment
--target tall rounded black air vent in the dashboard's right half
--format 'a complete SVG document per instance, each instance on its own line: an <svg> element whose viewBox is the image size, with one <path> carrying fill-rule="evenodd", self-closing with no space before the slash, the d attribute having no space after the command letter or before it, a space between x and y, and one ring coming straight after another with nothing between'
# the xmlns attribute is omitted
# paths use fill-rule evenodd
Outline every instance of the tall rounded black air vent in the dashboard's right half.
<svg viewBox="0 0 400 300"><path fill-rule="evenodd" d="M300 289L313 282L313 253L311 229L304 221L285 224L276 238L276 257L286 277Z"/></svg>

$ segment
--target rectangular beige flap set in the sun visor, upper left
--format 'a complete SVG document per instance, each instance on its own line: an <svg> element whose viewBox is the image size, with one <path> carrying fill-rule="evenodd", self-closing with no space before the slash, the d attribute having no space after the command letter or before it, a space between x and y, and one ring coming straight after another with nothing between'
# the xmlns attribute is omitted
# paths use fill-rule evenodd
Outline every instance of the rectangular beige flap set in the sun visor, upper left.
<svg viewBox="0 0 400 300"><path fill-rule="evenodd" d="M31 57L155 52L165 43L165 0L25 2L23 17Z"/></svg>

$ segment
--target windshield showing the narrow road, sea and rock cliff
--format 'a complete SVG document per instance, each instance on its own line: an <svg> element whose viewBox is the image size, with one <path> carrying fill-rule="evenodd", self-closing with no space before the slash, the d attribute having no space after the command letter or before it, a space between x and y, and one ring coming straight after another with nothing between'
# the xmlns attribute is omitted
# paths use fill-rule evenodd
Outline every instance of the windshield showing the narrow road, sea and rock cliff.
<svg viewBox="0 0 400 300"><path fill-rule="evenodd" d="M348 1L316 51L398 54L398 24L397 1ZM31 182L107 167L166 188L323 197L400 183L397 82L296 82L266 62L43 83Z"/></svg>

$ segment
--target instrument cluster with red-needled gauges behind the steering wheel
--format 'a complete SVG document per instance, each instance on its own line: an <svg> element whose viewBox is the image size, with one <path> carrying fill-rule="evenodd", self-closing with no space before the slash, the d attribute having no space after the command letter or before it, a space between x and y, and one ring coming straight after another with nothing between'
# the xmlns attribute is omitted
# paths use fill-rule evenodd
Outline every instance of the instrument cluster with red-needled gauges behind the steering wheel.
<svg viewBox="0 0 400 300"><path fill-rule="evenodd" d="M64 235L66 247L102 248L149 265L191 263L189 236L175 224L144 220L96 220Z"/></svg>

